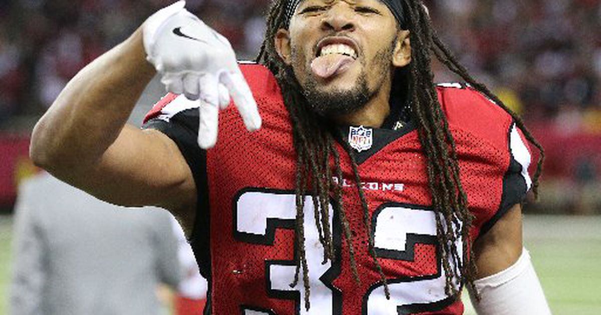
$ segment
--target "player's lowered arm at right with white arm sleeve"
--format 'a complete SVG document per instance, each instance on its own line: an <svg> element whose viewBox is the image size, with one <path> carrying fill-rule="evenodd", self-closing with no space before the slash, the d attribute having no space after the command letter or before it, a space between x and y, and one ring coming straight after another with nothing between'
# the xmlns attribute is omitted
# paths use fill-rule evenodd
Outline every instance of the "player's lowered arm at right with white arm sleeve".
<svg viewBox="0 0 601 315"><path fill-rule="evenodd" d="M470 298L481 315L551 314L522 241L522 206L515 205L474 242L478 268Z"/></svg>

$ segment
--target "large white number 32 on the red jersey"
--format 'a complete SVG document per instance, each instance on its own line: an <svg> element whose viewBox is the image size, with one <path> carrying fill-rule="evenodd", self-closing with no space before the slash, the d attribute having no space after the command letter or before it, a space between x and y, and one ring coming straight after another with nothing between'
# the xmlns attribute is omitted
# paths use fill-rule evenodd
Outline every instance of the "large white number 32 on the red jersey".
<svg viewBox="0 0 601 315"><path fill-rule="evenodd" d="M239 241L272 246L276 229L296 226L296 196L290 191L243 190L234 204L234 232ZM296 301L296 314L343 314L342 295L332 280L340 273L337 263L323 262L323 247L317 233L313 201L305 200L305 248L310 274L311 307L304 305L305 287L301 281L290 287L296 272L293 260L266 260L267 296ZM334 211L329 211L332 215ZM337 217L337 215L333 215ZM330 218L335 244L340 247L340 223ZM374 212L372 233L378 257L412 261L416 244L436 244L435 212L398 204L380 206ZM462 245L457 243L457 248ZM338 248L340 250L340 248ZM437 257L441 262L440 257ZM453 301L445 294L445 273L438 263L438 272L425 277L389 279L391 299L386 299L382 283L374 283L362 296L362 314L397 315L441 310ZM344 312L346 313L346 312ZM359 313L353 310L353 313ZM258 305L243 305L244 315L273 315L270 309Z"/></svg>

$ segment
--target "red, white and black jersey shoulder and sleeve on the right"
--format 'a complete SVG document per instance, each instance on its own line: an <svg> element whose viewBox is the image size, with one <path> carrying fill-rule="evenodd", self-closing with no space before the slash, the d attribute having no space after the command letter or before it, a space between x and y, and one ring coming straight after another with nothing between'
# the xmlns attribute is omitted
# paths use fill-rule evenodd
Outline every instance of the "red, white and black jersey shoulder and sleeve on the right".
<svg viewBox="0 0 601 315"><path fill-rule="evenodd" d="M487 210L477 214L481 217L479 235L483 235L514 205L523 202L532 186L528 174L531 151L522 131L513 117L501 106L467 85L446 84L438 87L442 106L453 130L461 130L469 137L477 138L478 148L474 156L495 157L496 163L481 166L487 170L486 185L499 187L501 196L490 194L495 202ZM498 185L498 186L497 186ZM478 194L478 193L477 193ZM484 195L484 194L483 194Z"/></svg>

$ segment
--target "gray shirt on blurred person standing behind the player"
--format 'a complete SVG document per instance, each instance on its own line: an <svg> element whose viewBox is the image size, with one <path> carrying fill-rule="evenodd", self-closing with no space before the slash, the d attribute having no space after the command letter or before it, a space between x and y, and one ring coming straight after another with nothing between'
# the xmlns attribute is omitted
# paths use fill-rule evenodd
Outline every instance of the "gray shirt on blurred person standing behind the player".
<svg viewBox="0 0 601 315"><path fill-rule="evenodd" d="M181 272L171 215L102 202L52 176L16 206L10 314L157 314Z"/></svg>

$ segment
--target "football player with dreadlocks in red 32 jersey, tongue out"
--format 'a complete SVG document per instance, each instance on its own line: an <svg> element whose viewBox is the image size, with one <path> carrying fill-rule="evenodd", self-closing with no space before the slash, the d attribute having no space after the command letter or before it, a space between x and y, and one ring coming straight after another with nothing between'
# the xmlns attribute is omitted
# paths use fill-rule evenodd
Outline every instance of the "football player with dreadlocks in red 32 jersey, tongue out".
<svg viewBox="0 0 601 315"><path fill-rule="evenodd" d="M542 148L421 1L275 0L240 65L184 5L71 80L31 156L177 216L207 314L461 314L464 285L482 314L549 313L520 208L540 173L526 143ZM435 86L431 55L469 85ZM156 73L169 94L126 125Z"/></svg>

